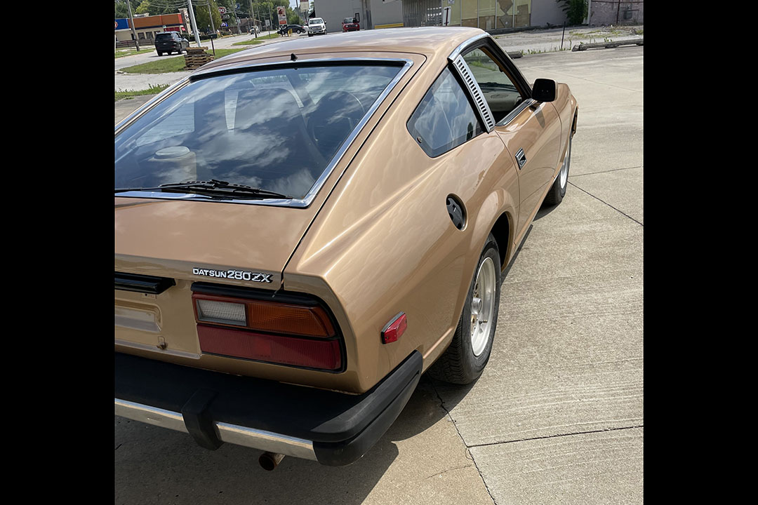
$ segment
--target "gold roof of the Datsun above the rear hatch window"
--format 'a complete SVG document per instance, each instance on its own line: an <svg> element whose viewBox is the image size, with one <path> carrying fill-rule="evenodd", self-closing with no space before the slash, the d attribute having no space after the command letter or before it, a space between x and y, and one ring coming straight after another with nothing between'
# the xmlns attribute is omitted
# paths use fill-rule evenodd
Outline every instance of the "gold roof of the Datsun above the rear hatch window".
<svg viewBox="0 0 758 505"><path fill-rule="evenodd" d="M318 55L335 52L418 53L430 59L447 58L463 42L485 34L467 26L422 26L334 33L325 37L293 39L240 51L203 65L197 73L212 72L215 67L244 67L261 58L290 55ZM345 55L346 58L349 55ZM396 55L395 55L396 57Z"/></svg>

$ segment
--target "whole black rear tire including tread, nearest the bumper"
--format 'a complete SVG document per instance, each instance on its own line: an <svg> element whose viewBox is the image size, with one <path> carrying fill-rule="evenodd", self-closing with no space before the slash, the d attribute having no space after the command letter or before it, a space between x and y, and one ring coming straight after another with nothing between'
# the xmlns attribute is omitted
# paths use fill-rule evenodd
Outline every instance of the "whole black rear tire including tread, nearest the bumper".
<svg viewBox="0 0 758 505"><path fill-rule="evenodd" d="M475 284L478 272L485 260L489 258L494 263L495 270L495 304L492 314L493 322L490 326L490 332L487 337L487 344L484 351L475 356L471 347L471 301L474 298ZM458 327L453 335L453 341L449 347L440 356L440 358L429 367L429 375L434 379L451 382L453 384L470 384L481 376L484 366L490 360L492 352L492 343L495 337L497 326L497 311L500 306L500 251L497 248L497 242L492 234L487 237L487 243L484 245L479 263L477 263L474 277L471 279L471 285L468 286L468 295L463 305L463 313L458 320Z"/></svg>

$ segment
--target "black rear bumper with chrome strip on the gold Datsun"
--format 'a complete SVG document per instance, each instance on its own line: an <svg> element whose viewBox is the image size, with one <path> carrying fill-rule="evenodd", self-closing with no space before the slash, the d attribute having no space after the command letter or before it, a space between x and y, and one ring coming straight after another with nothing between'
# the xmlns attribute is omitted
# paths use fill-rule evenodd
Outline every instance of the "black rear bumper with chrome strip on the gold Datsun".
<svg viewBox="0 0 758 505"><path fill-rule="evenodd" d="M257 438L239 442L240 433L264 433L312 444L312 459L331 466L358 460L384 435L406 406L421 377L421 354L414 351L364 394L342 394L265 379L148 360L116 353L115 398L120 404L154 407L181 416L180 426L209 449L226 441L270 450ZM136 410L133 410L136 412ZM131 412L131 411L130 411ZM151 422L130 414L121 415ZM158 424L154 422L154 424ZM183 426L182 426L183 425ZM234 437L224 429L233 426ZM280 447L277 445L275 447ZM277 449L283 454L301 453Z"/></svg>

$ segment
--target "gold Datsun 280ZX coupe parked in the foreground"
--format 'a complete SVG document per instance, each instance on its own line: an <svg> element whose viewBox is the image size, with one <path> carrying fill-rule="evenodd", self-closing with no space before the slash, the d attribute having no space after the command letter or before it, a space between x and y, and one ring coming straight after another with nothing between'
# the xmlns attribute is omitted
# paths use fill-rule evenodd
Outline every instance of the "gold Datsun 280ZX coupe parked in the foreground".
<svg viewBox="0 0 758 505"><path fill-rule="evenodd" d="M422 373L481 375L577 116L467 27L253 48L152 98L115 129L115 413L357 460Z"/></svg>

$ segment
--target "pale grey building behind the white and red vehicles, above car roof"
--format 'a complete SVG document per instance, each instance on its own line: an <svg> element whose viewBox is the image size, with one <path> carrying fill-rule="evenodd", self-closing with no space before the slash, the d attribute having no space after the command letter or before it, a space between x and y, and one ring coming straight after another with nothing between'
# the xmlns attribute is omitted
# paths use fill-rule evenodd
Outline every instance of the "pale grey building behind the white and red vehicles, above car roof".
<svg viewBox="0 0 758 505"><path fill-rule="evenodd" d="M342 20L354 17L361 30L402 26L401 0L313 0L316 17L327 23L327 32L342 31ZM437 0L439 3L439 0Z"/></svg>

